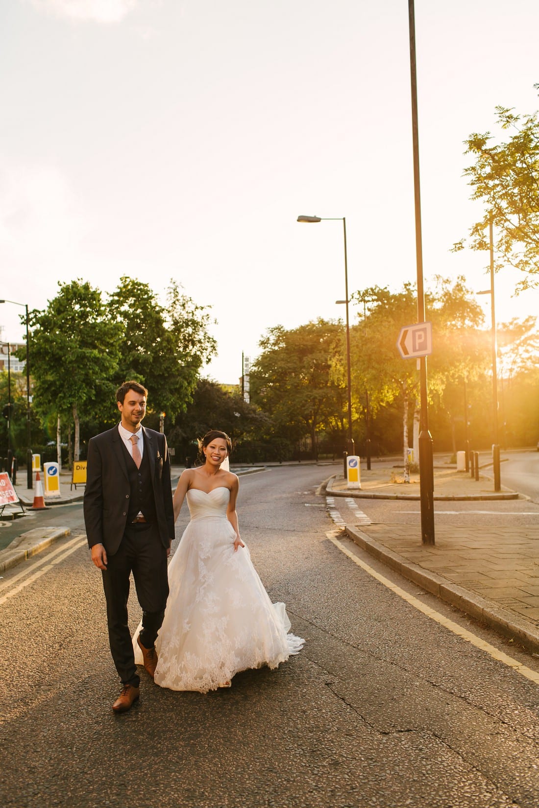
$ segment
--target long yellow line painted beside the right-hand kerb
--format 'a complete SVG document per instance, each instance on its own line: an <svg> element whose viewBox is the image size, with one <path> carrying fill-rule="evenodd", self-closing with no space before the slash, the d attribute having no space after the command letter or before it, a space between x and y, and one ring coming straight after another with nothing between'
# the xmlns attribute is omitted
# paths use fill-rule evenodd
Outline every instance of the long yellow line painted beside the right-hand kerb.
<svg viewBox="0 0 539 808"><path fill-rule="evenodd" d="M336 539L332 533L326 533L326 536L331 542L333 542L335 547L338 547L339 550L347 555L348 558L351 558L352 561L357 564L357 566L360 566L362 570L367 572L369 575L372 575L373 578L377 579L377 581L380 583L383 583L385 587L393 591L395 595L398 595L400 598L402 598L402 600L406 600L406 603L411 604L411 606L414 606L419 610L419 612L423 612L424 615L430 617L431 620L435 621L436 623L443 625L446 629L452 631L453 634L457 634L457 637L461 637L463 640L466 640L466 642L470 642L470 644L476 648L485 651L486 654L489 654L489 656L492 657L492 659L497 659L499 662L507 665L507 667L512 667L514 671L520 673L522 676L525 676L526 679L534 682L535 684L539 684L539 673L537 673L537 671L533 671L530 667L527 667L526 665L518 662L516 659L504 654L503 651L495 648L495 646L491 646L490 642L482 640L476 634L468 631L468 629L463 629L460 625L453 622L453 620L449 620L448 617L444 617L444 615L440 614L440 612L436 612L436 609L427 606L427 604L423 604L423 602L418 600L414 595L410 595L404 589L398 587L396 583L393 583L390 581L390 579L385 578L384 575L381 575L376 570L373 570L372 566L368 566L368 564L361 561L361 559L347 549L347 547L345 547L341 541Z"/></svg>

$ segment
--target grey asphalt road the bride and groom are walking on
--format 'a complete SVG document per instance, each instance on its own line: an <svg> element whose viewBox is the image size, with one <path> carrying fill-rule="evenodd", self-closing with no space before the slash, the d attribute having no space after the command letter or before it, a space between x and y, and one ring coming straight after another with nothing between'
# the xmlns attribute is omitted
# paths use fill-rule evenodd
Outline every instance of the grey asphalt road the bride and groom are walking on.
<svg viewBox="0 0 539 808"><path fill-rule="evenodd" d="M103 594L83 539L6 573L2 806L537 808L537 685L342 552L346 540L316 495L331 470L241 480L242 537L307 642L278 670L246 671L229 690L170 692L144 677L140 703L114 715ZM377 507L361 501L369 517ZM178 537L186 521L182 513ZM539 670L531 655L357 558ZM132 600L133 629L139 617Z"/></svg>

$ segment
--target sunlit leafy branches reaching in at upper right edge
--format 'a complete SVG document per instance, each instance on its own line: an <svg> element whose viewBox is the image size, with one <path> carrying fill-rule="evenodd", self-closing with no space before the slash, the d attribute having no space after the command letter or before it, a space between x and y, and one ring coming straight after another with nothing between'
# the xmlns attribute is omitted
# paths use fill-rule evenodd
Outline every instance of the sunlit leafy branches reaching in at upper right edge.
<svg viewBox="0 0 539 808"><path fill-rule="evenodd" d="M484 204L484 215L470 229L472 250L489 249L489 222L495 232L495 270L507 264L524 277L516 288L522 291L539 284L539 120L496 107L502 130L512 130L507 141L493 143L490 132L473 133L465 141L465 154L475 162L464 175L474 189L473 200ZM462 250L465 239L453 250Z"/></svg>

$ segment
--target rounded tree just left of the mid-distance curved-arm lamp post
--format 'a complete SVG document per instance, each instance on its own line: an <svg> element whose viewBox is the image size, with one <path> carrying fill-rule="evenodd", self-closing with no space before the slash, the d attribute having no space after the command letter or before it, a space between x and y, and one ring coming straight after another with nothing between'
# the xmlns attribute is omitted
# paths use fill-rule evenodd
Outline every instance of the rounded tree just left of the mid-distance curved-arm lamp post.
<svg viewBox="0 0 539 808"><path fill-rule="evenodd" d="M262 353L251 368L251 401L272 419L281 440L343 431L343 326L318 319L286 330L275 326L260 340Z"/></svg>

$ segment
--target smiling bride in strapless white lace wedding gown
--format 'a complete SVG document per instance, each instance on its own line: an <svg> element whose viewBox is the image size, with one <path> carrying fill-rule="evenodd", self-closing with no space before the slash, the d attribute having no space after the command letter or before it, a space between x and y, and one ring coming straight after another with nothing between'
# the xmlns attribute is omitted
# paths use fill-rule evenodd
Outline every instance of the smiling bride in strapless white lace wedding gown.
<svg viewBox="0 0 539 808"><path fill-rule="evenodd" d="M240 538L239 481L225 470L229 437L213 430L199 444L204 465L185 469L174 494L175 520L187 498L191 521L168 568L154 681L205 693L229 688L238 671L277 667L305 641L288 633L284 604L272 604ZM133 648L141 665L137 633Z"/></svg>

